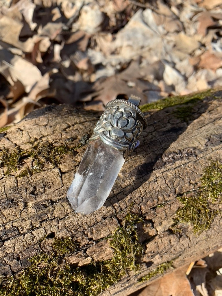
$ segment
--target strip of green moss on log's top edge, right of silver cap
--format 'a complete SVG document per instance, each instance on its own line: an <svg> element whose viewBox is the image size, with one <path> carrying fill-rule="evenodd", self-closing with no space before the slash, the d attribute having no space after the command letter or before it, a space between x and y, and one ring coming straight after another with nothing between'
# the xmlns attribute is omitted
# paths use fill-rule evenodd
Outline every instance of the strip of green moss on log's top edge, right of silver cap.
<svg viewBox="0 0 222 296"><path fill-rule="evenodd" d="M210 95L211 93L212 93L212 91L208 90L208 91L204 91L201 93L191 94L191 95L186 95L186 96L167 97L165 99L161 99L156 102L145 104L145 105L141 106L141 110L143 112L147 112L152 109L160 109L161 110L166 107L184 104L184 103L188 103L188 102L193 103L193 102L197 102L198 100L204 99L206 96Z"/></svg>

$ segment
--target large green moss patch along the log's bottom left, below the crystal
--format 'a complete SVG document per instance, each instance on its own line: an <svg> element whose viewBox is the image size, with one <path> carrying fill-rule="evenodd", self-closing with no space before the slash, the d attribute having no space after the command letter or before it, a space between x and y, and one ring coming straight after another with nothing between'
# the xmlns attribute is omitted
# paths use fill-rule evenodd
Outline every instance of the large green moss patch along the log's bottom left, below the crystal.
<svg viewBox="0 0 222 296"><path fill-rule="evenodd" d="M123 226L109 237L114 249L112 259L73 267L65 263L76 244L71 238L56 239L51 253L41 252L30 259L31 265L20 275L1 278L1 296L93 296L116 283L127 271L139 268L137 260L143 247L138 242L136 228L142 220L127 214Z"/></svg>

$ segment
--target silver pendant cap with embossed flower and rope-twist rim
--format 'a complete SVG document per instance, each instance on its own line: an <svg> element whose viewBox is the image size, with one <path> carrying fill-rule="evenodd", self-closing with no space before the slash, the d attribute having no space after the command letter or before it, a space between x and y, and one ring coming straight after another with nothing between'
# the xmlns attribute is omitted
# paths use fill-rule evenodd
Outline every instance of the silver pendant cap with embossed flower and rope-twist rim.
<svg viewBox="0 0 222 296"><path fill-rule="evenodd" d="M138 106L116 99L106 105L90 140L100 138L104 143L123 151L124 158L127 158L146 126L146 118Z"/></svg>

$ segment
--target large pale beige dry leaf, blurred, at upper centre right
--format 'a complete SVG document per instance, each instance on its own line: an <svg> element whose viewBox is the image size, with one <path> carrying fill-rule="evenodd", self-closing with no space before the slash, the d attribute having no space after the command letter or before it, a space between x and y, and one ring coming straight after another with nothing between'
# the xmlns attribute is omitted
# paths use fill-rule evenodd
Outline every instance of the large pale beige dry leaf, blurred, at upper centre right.
<svg viewBox="0 0 222 296"><path fill-rule="evenodd" d="M165 30L157 26L151 9L138 10L126 26L118 31L112 50L121 57L133 59L140 55L150 62L166 57L166 51L172 49L171 42L164 39ZM163 41L164 40L164 41Z"/></svg>

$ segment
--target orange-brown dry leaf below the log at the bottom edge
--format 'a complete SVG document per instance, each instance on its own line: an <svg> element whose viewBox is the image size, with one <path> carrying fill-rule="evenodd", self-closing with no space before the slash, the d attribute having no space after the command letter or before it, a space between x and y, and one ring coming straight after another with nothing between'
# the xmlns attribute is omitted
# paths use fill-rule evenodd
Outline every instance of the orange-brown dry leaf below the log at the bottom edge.
<svg viewBox="0 0 222 296"><path fill-rule="evenodd" d="M138 296L194 296L186 277L188 266L177 268L153 281Z"/></svg>

